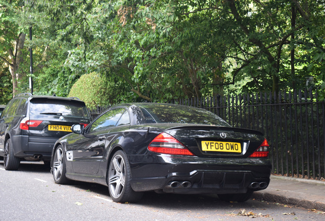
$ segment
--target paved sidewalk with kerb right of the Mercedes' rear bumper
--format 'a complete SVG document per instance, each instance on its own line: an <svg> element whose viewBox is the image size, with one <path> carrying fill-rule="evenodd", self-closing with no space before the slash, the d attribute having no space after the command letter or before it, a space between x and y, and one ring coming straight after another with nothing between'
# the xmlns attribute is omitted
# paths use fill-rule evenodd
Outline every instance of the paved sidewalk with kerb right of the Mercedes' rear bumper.
<svg viewBox="0 0 325 221"><path fill-rule="evenodd" d="M325 182L271 175L269 186L254 192L252 197L325 211Z"/></svg>

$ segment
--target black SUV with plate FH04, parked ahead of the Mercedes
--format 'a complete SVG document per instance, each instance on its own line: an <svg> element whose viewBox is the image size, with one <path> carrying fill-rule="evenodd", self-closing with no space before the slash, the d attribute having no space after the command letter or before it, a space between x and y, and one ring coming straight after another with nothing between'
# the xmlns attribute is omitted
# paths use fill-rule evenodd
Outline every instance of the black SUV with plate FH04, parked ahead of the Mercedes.
<svg viewBox="0 0 325 221"><path fill-rule="evenodd" d="M78 98L15 96L0 116L0 156L6 170L17 170L21 160L51 161L56 140L75 123L90 123L86 105Z"/></svg>

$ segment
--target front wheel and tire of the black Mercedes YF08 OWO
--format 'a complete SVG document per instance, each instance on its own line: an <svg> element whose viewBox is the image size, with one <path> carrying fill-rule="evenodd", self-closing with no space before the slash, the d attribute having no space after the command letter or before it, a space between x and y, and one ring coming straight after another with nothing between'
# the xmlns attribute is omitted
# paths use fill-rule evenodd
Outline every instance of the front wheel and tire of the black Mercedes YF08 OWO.
<svg viewBox="0 0 325 221"><path fill-rule="evenodd" d="M54 152L52 169L53 179L55 183L68 184L70 182L70 180L68 180L65 176L66 165L63 147L61 145L59 145Z"/></svg>

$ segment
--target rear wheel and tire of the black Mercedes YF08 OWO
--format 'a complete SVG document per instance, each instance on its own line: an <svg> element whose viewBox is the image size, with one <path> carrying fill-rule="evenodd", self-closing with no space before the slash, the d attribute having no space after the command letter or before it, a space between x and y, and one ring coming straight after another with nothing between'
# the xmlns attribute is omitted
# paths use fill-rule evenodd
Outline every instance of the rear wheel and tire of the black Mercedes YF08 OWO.
<svg viewBox="0 0 325 221"><path fill-rule="evenodd" d="M117 203L135 203L141 200L143 192L135 192L131 185L131 171L126 154L119 150L114 153L107 171L110 197Z"/></svg>

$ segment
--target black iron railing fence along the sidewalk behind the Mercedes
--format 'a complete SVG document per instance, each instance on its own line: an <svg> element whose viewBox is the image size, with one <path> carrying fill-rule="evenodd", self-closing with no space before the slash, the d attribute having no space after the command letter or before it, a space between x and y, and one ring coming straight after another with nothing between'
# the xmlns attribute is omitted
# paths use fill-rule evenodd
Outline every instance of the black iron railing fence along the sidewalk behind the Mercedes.
<svg viewBox="0 0 325 221"><path fill-rule="evenodd" d="M318 180L325 177L325 102L318 100L317 93L228 95L169 103L205 108L232 126L263 132L270 144L274 174ZM92 116L104 110L100 107Z"/></svg>

